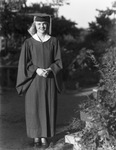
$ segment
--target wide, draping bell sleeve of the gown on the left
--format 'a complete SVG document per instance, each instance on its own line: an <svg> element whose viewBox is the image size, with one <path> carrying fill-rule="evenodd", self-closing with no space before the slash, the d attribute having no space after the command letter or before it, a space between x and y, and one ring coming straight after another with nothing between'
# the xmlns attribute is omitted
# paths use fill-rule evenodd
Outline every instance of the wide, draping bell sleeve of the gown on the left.
<svg viewBox="0 0 116 150"><path fill-rule="evenodd" d="M23 95L27 91L36 76L37 68L31 61L29 46L25 41L22 45L17 72L16 90L19 95Z"/></svg>

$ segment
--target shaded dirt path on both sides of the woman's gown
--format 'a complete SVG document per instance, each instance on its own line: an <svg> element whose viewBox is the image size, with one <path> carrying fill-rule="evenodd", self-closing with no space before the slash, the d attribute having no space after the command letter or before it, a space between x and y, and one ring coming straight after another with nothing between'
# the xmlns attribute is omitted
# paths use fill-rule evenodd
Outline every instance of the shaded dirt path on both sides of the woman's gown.
<svg viewBox="0 0 116 150"><path fill-rule="evenodd" d="M88 91L62 93L58 97L57 134L62 132L76 113ZM24 97L14 89L0 91L0 150L29 150L31 139L25 130Z"/></svg>

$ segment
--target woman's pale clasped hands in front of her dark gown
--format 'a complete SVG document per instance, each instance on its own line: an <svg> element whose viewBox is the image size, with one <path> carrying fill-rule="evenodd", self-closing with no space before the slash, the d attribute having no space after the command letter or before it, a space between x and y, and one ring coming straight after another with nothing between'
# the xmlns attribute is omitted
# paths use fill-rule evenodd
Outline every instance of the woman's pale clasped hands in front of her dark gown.
<svg viewBox="0 0 116 150"><path fill-rule="evenodd" d="M38 68L36 70L36 73L39 75L39 76L43 76L43 77L47 77L49 75L51 71L51 68L47 68L47 69L42 69L42 68Z"/></svg>

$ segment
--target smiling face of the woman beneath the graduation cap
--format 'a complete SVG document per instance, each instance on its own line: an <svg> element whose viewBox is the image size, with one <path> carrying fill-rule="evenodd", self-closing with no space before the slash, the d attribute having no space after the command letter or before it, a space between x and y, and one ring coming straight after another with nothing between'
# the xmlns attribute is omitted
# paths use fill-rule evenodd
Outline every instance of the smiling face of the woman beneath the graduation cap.
<svg viewBox="0 0 116 150"><path fill-rule="evenodd" d="M36 30L39 33L46 33L48 30L48 23L42 21L35 21Z"/></svg>

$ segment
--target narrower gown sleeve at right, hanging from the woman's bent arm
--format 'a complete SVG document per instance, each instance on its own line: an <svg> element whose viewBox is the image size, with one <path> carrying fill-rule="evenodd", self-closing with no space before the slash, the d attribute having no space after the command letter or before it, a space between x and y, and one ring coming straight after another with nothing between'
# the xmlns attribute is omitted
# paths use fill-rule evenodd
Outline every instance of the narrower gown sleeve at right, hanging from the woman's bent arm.
<svg viewBox="0 0 116 150"><path fill-rule="evenodd" d="M60 51L60 44L59 41L56 39L54 44L54 62L50 65L50 68L54 74L56 86L58 92L62 91L62 58L61 58L61 51Z"/></svg>

